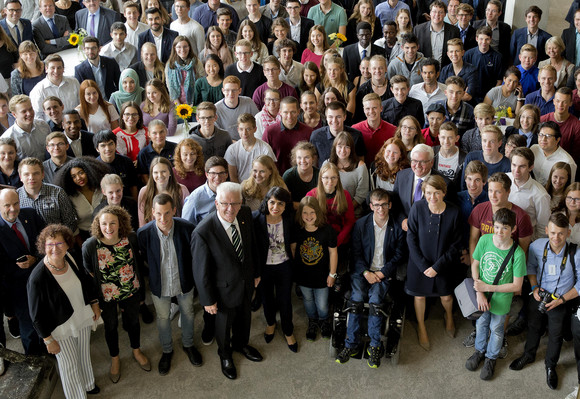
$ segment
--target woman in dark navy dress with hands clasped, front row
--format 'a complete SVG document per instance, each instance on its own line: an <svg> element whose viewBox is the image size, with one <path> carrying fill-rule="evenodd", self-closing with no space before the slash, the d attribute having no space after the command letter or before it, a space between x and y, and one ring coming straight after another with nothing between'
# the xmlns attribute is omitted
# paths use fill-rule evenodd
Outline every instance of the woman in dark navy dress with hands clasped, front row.
<svg viewBox="0 0 580 399"><path fill-rule="evenodd" d="M426 297L441 297L445 331L450 337L455 336L452 283L454 265L459 261L462 230L459 208L443 199L447 193L443 177L431 175L421 188L424 199L413 204L407 222L409 263L405 292L415 297L419 345L429 350L425 327Z"/></svg>

